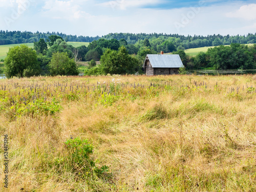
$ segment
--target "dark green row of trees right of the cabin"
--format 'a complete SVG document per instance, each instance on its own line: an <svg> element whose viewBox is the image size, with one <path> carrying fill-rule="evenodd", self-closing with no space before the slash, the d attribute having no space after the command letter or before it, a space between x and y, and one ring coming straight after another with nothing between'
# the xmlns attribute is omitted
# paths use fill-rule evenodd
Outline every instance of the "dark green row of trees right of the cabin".
<svg viewBox="0 0 256 192"><path fill-rule="evenodd" d="M256 69L256 44L247 46L231 44L209 48L207 52L200 52L195 57L189 57L183 50L173 52L179 54L186 69L227 70L227 69Z"/></svg>

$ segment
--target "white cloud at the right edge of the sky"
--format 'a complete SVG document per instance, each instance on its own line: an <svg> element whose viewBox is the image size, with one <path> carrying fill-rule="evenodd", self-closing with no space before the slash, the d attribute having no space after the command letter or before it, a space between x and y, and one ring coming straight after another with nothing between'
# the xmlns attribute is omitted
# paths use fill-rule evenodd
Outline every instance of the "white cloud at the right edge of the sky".
<svg viewBox="0 0 256 192"><path fill-rule="evenodd" d="M254 20L256 18L256 4L249 4L240 7L239 10L226 14L231 18L243 18L246 20Z"/></svg>

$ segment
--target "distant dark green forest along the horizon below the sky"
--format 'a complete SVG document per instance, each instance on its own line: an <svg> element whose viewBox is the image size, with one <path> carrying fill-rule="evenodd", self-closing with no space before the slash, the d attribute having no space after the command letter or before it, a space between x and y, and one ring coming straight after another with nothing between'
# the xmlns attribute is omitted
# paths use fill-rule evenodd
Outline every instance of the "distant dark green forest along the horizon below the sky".
<svg viewBox="0 0 256 192"><path fill-rule="evenodd" d="M178 34L163 34L163 33L109 33L104 36L77 36L77 35L66 35L59 32L20 32L20 31L0 31L0 45L8 45L8 44L22 44L27 42L35 42L39 41L40 38L47 40L47 38L51 35L58 35L62 37L65 41L78 41L78 42L92 42L93 40L98 40L100 38L104 38L107 40L111 39L125 39L127 44L136 44L137 42L149 39L153 46L157 44L158 41L164 42L165 40L172 40L175 46L178 49L190 49L190 48L199 48L199 47L208 47L208 46L220 46L220 45L230 45L231 43L239 43L239 44L255 44L256 43L256 33L255 34L247 34L247 35L194 35L194 36L184 36ZM155 48L156 50L156 48Z"/></svg>

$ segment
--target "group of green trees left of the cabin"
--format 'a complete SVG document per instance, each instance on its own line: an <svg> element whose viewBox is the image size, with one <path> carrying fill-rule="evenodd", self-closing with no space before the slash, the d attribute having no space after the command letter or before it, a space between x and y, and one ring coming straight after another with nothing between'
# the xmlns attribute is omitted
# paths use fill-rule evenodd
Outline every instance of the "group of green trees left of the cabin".
<svg viewBox="0 0 256 192"><path fill-rule="evenodd" d="M73 47L60 36L40 38L34 48L14 46L7 53L5 75L7 78L37 75L78 75L77 62L88 60L87 74L133 74L140 69L140 61L129 55L122 40L99 39L88 47ZM126 45L126 44L125 44ZM100 60L100 67L96 61Z"/></svg>

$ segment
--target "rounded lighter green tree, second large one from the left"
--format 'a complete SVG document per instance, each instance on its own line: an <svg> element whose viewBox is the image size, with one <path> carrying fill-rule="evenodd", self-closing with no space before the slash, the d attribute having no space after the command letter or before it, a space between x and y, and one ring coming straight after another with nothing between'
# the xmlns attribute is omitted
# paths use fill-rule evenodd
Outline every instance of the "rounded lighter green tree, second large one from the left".
<svg viewBox="0 0 256 192"><path fill-rule="evenodd" d="M57 52L52 54L49 63L51 75L78 75L79 71L74 59L69 58L67 52Z"/></svg>

